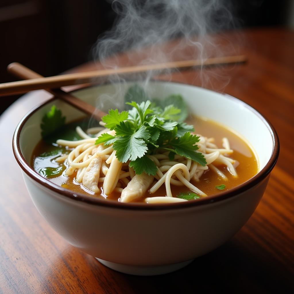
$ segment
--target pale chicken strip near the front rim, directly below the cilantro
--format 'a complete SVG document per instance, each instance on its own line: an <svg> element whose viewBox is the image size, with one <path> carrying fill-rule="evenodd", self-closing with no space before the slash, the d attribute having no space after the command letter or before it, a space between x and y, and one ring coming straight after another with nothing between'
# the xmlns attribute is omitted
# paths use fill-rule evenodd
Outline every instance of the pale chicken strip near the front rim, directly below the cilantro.
<svg viewBox="0 0 294 294"><path fill-rule="evenodd" d="M152 184L153 178L146 173L135 175L121 192L120 202L130 202L141 198Z"/></svg>

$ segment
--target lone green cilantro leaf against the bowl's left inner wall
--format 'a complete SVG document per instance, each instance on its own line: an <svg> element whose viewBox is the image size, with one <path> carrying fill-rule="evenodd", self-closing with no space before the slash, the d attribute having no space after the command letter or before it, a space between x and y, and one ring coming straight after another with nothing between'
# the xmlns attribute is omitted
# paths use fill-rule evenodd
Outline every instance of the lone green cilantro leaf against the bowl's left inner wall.
<svg viewBox="0 0 294 294"><path fill-rule="evenodd" d="M61 110L53 105L50 110L45 113L41 121L41 136L43 138L51 135L54 131L61 128L65 123L65 116L62 116Z"/></svg>

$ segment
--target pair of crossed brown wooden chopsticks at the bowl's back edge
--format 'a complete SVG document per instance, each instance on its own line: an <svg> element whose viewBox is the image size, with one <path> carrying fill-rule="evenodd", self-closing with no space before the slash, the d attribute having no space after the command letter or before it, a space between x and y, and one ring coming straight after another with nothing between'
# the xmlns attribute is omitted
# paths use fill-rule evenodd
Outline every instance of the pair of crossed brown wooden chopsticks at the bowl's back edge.
<svg viewBox="0 0 294 294"><path fill-rule="evenodd" d="M112 76L112 75L126 75L134 73L144 73L147 71L167 71L172 69L188 69L191 67L202 66L216 66L224 64L236 64L244 63L246 57L244 55L239 56L227 56L209 58L205 61L198 59L186 60L186 61L171 61L161 64L147 64L140 66L128 66L118 69L103 69L97 71L81 72L76 74L65 74L60 76L43 77L36 72L28 69L27 67L19 64L12 63L7 67L8 71L25 81L16 81L11 83L0 84L0 96L8 96L20 93L26 93L33 90L45 89L52 93L56 98L60 98L72 106L78 108L88 115L93 115L95 118L100 119L104 115L102 111L97 110L90 104L72 96L69 93L58 89L62 86L78 85L83 83L91 83L95 78Z"/></svg>

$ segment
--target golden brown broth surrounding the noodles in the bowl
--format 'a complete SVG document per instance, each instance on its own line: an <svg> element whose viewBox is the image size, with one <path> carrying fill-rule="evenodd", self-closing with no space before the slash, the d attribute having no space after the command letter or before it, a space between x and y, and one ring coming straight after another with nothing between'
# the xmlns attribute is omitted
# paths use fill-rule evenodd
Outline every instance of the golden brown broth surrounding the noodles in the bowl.
<svg viewBox="0 0 294 294"><path fill-rule="evenodd" d="M245 141L241 139L238 135L230 131L228 128L205 118L193 117L188 120L188 123L194 125L196 133L201 134L202 136L206 136L208 138L215 138L215 143L219 148L222 148L222 138L228 138L230 142L230 148L234 150L231 158L236 160L234 166L238 173L237 178L234 178L225 166L218 166L218 168L228 177L228 181L223 181L220 177L218 177L216 173L211 170L205 171L205 173L200 178L200 182L191 181L194 186L202 190L208 196L220 192L220 190L216 189L215 186L225 184L225 189L223 191L226 191L240 185L241 183L244 183L245 181L248 181L258 172L258 163L253 151L248 146L248 144L245 143ZM39 167L43 165L43 167L46 168L48 166L48 161L50 161L50 158L42 159L38 157L41 153L47 151L50 151L50 147L46 145L43 141L41 141L36 146L33 152L33 167L36 165L36 163L38 163ZM61 175L54 178L49 178L49 181L52 181L59 186L70 189L77 193L92 195L93 197L98 198L104 198L101 195L95 195L93 192L84 188L81 184L76 183L75 176L76 173L74 173L72 176ZM99 183L98 187L101 187L102 185L102 183ZM171 185L171 191L173 196L176 196L180 192L187 192L191 190L188 189L186 186L179 187ZM165 185L163 184L161 188L159 188L154 194L146 192L144 197L137 200L136 202L143 202L146 197L165 195L166 190ZM120 193L113 192L107 197L107 199L117 201L119 197Z"/></svg>

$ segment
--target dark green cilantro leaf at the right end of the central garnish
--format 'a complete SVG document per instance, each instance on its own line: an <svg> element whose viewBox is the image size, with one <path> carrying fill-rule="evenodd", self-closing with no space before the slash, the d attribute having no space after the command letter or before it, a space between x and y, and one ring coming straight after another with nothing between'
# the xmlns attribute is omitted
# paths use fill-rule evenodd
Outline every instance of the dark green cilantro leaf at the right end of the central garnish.
<svg viewBox="0 0 294 294"><path fill-rule="evenodd" d="M190 158L200 165L205 166L206 160L204 156L201 153L196 152L198 146L195 144L197 142L199 142L199 137L186 132L184 136L173 139L170 144L174 148L174 152L176 152L178 155Z"/></svg>

